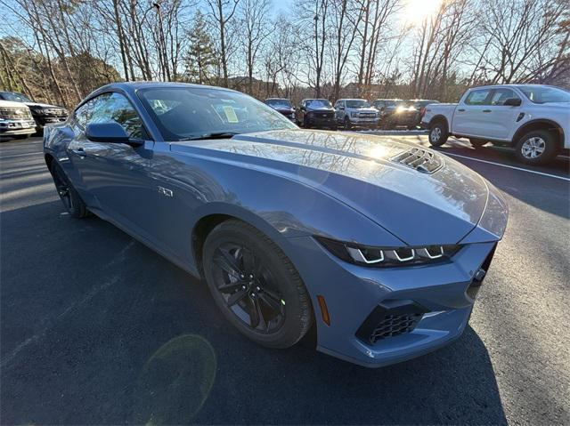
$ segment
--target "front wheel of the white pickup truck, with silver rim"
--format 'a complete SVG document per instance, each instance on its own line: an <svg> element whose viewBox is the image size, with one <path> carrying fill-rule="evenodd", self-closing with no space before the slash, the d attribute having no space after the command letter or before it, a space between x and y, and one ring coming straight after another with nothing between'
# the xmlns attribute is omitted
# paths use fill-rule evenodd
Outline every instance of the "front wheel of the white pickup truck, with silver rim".
<svg viewBox="0 0 570 426"><path fill-rule="evenodd" d="M526 165L544 165L558 155L557 141L546 130L525 133L515 146L517 160Z"/></svg>

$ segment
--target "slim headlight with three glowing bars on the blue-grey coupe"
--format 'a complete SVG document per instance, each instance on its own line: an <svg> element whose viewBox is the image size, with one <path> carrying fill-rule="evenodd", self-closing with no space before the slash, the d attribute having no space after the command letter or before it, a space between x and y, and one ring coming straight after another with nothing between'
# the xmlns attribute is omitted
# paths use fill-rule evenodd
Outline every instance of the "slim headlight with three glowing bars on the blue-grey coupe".
<svg viewBox="0 0 570 426"><path fill-rule="evenodd" d="M315 239L330 253L343 261L379 268L448 261L461 248L461 245L371 247L324 237L315 237Z"/></svg>

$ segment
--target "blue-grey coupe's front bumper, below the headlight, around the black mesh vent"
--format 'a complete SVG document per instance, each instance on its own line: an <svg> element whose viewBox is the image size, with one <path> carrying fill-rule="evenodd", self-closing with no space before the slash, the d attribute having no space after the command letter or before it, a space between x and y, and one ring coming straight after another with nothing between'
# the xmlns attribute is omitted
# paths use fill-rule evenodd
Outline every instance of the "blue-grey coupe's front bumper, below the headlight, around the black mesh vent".
<svg viewBox="0 0 570 426"><path fill-rule="evenodd" d="M371 367L418 357L460 337L473 308L474 288L481 284L474 276L488 268L496 245L465 245L452 261L442 263L374 269L340 261L313 237L288 242L313 300L317 349ZM330 326L322 319L318 295L326 301ZM359 333L379 306L409 303L422 310L410 332L376 342Z"/></svg>

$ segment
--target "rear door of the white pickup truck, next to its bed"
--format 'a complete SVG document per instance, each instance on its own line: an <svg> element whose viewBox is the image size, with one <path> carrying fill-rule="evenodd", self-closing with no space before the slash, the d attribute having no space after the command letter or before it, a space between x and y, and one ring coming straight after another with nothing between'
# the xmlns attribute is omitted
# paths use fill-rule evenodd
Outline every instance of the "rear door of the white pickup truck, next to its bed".
<svg viewBox="0 0 570 426"><path fill-rule="evenodd" d="M482 136L488 119L492 89L475 89L468 92L464 100L455 108L452 118L452 133L459 135Z"/></svg>

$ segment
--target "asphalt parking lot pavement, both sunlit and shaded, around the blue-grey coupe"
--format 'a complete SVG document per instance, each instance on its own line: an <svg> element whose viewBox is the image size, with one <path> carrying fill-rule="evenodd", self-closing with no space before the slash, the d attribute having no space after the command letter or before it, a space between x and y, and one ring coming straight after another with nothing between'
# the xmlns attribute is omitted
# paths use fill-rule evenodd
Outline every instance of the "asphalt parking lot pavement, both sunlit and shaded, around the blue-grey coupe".
<svg viewBox="0 0 570 426"><path fill-rule="evenodd" d="M504 192L509 226L460 340L370 370L249 342L206 285L64 214L39 139L0 143L0 423L569 424L570 159L440 150Z"/></svg>

